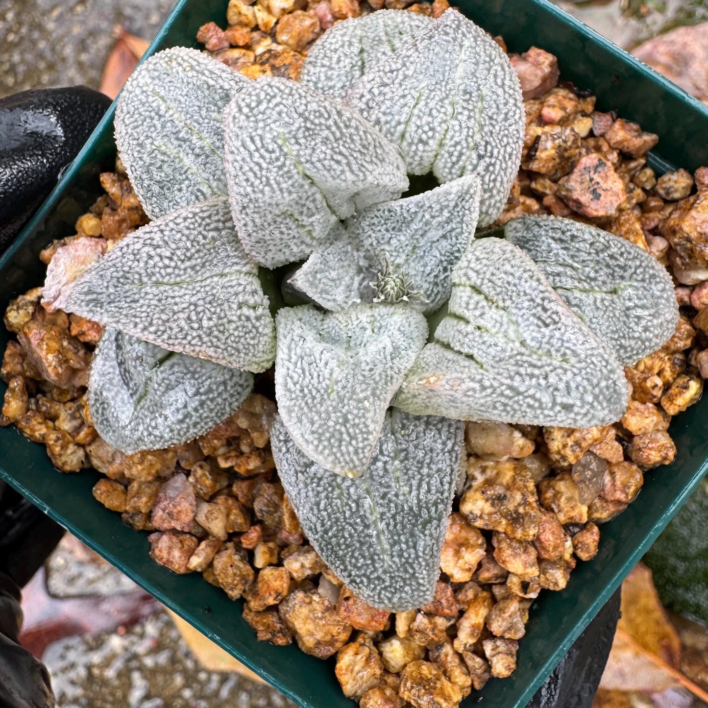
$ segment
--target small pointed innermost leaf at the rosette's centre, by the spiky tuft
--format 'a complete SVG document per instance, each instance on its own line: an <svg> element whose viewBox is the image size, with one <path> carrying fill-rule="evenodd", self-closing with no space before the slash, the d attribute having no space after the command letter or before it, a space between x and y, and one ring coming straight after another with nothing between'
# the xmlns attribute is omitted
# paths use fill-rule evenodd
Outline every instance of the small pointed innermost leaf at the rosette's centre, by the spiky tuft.
<svg viewBox="0 0 708 708"><path fill-rule="evenodd" d="M382 297L386 275L409 282L412 307L433 312L450 297L452 268L474 239L478 212L476 175L377 204L347 219L340 239L315 251L291 282L336 311Z"/></svg>

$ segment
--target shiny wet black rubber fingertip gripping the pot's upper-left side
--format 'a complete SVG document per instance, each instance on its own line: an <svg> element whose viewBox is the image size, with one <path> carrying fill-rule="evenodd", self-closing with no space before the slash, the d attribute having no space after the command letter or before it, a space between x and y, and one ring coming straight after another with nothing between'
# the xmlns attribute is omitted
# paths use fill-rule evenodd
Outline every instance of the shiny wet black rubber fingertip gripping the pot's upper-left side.
<svg viewBox="0 0 708 708"><path fill-rule="evenodd" d="M74 159L110 98L72 86L0 99L0 253Z"/></svg>

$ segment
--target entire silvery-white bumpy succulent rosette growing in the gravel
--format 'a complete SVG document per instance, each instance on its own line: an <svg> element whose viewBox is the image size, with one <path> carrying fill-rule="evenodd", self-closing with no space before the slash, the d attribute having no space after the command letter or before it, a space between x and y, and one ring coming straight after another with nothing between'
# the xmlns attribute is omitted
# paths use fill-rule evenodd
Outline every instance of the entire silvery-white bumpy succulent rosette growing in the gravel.
<svg viewBox="0 0 708 708"><path fill-rule="evenodd" d="M615 422L623 365L678 322L666 270L600 229L525 217L475 239L524 125L508 57L453 9L338 23L299 82L147 59L115 137L152 222L67 296L104 328L98 433L125 453L196 438L275 364L271 445L309 541L376 607L430 601L463 421Z"/></svg>

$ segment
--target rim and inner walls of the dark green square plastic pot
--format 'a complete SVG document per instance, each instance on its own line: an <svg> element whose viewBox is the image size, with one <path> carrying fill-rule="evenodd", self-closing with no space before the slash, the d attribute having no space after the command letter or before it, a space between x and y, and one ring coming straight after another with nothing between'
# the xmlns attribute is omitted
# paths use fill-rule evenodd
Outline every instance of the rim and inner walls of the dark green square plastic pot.
<svg viewBox="0 0 708 708"><path fill-rule="evenodd" d="M195 46L197 29L214 20L223 25L226 0L180 0L150 46L150 55L174 45ZM511 51L536 45L559 59L561 78L598 96L599 110L616 109L645 130L658 133L651 157L662 171L708 164L708 108L651 71L585 25L545 0L461 0L462 11ZM113 169L113 108L67 169L57 188L13 247L0 260L0 304L40 285L45 269L38 253L52 239L74 233L77 217L100 192L98 173ZM0 346L8 341L0 333ZM646 475L644 489L627 511L603 525L600 552L578 564L568 587L545 591L533 605L520 641L518 668L511 678L491 680L480 693L488 708L523 708L590 619L617 589L632 566L695 489L708 470L708 396L674 419L670 433L678 447L675 462ZM177 576L149 559L147 535L122 524L120 515L91 496L95 472L60 474L43 445L14 428L0 429L0 476L74 535L118 566L210 639L306 708L351 708L337 683L333 659L319 661L295 644L275 647L256 640L232 602L198 574Z"/></svg>

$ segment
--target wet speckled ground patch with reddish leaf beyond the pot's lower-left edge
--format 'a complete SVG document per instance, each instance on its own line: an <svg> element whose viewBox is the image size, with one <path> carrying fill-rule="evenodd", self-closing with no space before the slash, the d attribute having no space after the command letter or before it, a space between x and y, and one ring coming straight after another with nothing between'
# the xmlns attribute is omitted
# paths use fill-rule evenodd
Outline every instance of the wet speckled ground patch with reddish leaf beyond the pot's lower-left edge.
<svg viewBox="0 0 708 708"><path fill-rule="evenodd" d="M210 670L229 658L185 635L195 655L157 600L72 535L25 587L23 612L21 644L49 669L57 708L294 706L266 685Z"/></svg>

